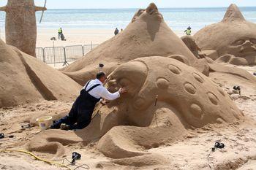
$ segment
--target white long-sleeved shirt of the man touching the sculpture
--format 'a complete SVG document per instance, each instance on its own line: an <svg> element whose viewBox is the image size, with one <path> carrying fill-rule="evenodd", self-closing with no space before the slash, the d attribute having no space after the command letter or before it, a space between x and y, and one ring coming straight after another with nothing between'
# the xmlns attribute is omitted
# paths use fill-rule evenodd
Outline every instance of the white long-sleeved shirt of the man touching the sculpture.
<svg viewBox="0 0 256 170"><path fill-rule="evenodd" d="M87 84L87 83L86 83ZM97 86L96 88L92 89L91 91L89 91L89 94L91 96L94 96L94 98L105 98L107 100L115 100L116 98L120 97L120 93L117 91L116 93L110 93L102 84L102 82L100 82L99 80L95 79L95 80L91 80L91 82L89 82L89 85L86 88L86 85L83 87L83 89L86 88L86 90L89 90L92 86L99 84L99 86Z"/></svg>

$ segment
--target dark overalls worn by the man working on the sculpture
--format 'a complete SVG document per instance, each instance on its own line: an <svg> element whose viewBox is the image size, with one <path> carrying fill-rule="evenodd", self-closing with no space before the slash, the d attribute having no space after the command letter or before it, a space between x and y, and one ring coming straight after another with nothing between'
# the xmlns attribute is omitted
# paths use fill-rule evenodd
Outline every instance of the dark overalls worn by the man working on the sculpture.
<svg viewBox="0 0 256 170"><path fill-rule="evenodd" d="M90 81L87 82L86 88ZM100 98L94 98L89 94L89 91L99 86L99 84L92 86L89 90L84 88L80 91L80 96L75 100L69 115L57 120L50 128L60 128L61 123L70 125L69 129L81 129L85 128L89 123L91 123L91 116L94 112L94 107Z"/></svg>

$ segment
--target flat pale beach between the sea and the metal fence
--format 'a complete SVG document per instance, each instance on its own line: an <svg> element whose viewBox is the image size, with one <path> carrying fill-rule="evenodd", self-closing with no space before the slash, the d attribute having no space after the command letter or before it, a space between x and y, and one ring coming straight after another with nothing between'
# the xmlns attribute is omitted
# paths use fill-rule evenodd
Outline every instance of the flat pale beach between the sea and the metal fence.
<svg viewBox="0 0 256 170"><path fill-rule="evenodd" d="M56 47L69 45L99 45L110 39L113 34L111 29L79 29L79 28L63 28L64 36L67 41L58 39L58 28L37 28L37 47L53 47L51 37L56 37L54 42ZM183 36L182 31L174 31L178 36ZM1 29L1 39L5 41L4 30Z"/></svg>

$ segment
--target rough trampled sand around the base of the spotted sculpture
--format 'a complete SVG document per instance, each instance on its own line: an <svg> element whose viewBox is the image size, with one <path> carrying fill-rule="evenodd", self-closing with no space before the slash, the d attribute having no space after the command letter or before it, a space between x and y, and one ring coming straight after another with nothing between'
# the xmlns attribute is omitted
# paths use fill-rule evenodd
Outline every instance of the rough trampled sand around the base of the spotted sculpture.
<svg viewBox="0 0 256 170"><path fill-rule="evenodd" d="M256 69L256 67L241 68ZM227 82L225 74L210 74L210 77L227 92L235 83L236 85L240 83L236 79L233 82ZM88 145L68 144L65 146L66 154L61 158L54 158L54 161L62 163L64 158L70 161L72 152L80 152L82 158L77 161L77 165L86 163L90 169L256 169L256 89L250 84L242 84L241 87L241 96L232 94L230 97L244 112L244 115L252 121L236 125L206 125L191 131L187 139L148 150L148 152L158 153L167 158L169 163L165 166L136 167L110 163L111 159L102 155L95 147L97 142L91 142ZM23 148L24 144L29 142L40 130L37 125L32 128L21 128L21 125L39 115L66 113L71 106L72 102L40 101L35 104L0 109L0 131L7 136L7 138L0 139L0 148ZM14 135L14 138L8 138L10 135ZM223 142L225 148L211 152L211 147L217 141ZM52 156L42 152L34 153L42 158L51 158ZM67 161L64 163L69 164ZM70 167L75 169L76 166ZM1 152L0 169L61 168L35 161L34 158L23 153Z"/></svg>

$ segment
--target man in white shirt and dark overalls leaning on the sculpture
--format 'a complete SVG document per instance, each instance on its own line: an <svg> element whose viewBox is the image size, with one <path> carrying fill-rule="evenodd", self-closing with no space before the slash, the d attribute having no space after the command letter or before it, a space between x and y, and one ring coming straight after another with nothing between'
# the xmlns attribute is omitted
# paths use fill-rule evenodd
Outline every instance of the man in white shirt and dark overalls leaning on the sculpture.
<svg viewBox="0 0 256 170"><path fill-rule="evenodd" d="M107 79L104 72L97 73L95 80L90 80L80 91L80 96L75 100L69 115L57 120L50 128L61 128L62 130L82 129L91 123L91 116L94 107L100 98L115 100L122 93L127 92L125 88L120 88L116 93L110 93L103 83ZM105 104L105 101L101 101Z"/></svg>

